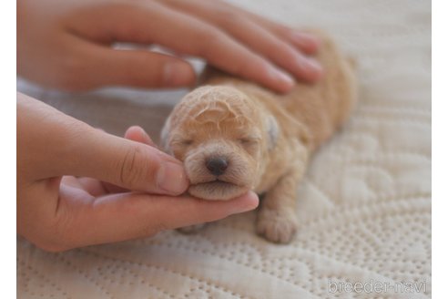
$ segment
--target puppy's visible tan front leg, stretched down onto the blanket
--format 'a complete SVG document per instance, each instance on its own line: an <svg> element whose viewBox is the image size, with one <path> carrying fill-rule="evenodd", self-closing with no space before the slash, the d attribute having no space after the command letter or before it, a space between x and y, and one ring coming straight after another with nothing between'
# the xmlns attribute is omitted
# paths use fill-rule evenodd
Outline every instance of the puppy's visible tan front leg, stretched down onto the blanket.
<svg viewBox="0 0 448 299"><path fill-rule="evenodd" d="M297 231L296 201L301 168L292 168L283 175L261 203L257 233L270 242L288 243Z"/></svg>

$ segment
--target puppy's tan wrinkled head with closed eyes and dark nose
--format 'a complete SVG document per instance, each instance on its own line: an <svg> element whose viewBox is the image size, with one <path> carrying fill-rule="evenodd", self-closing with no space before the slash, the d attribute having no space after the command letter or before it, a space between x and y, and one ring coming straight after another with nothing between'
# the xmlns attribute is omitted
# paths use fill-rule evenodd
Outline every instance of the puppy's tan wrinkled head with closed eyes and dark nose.
<svg viewBox="0 0 448 299"><path fill-rule="evenodd" d="M191 195L229 200L256 186L277 134L275 119L238 89L207 86L174 108L161 140L184 162Z"/></svg>

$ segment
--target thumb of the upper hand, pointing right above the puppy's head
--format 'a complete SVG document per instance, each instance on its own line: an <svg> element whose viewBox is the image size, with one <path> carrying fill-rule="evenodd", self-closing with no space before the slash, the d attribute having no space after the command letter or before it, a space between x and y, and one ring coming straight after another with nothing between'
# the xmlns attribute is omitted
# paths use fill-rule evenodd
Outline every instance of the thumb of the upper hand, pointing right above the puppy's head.
<svg viewBox="0 0 448 299"><path fill-rule="evenodd" d="M87 45L89 82L99 86L137 88L179 88L195 83L188 62L169 55L144 50L117 50Z"/></svg>

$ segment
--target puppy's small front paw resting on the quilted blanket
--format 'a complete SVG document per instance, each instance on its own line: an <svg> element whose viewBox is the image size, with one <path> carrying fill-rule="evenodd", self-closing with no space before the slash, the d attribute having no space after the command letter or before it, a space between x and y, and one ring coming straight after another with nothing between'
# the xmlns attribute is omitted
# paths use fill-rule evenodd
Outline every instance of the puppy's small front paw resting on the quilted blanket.
<svg viewBox="0 0 448 299"><path fill-rule="evenodd" d="M263 209L259 212L257 233L270 242L289 243L297 228L297 215L294 211Z"/></svg>

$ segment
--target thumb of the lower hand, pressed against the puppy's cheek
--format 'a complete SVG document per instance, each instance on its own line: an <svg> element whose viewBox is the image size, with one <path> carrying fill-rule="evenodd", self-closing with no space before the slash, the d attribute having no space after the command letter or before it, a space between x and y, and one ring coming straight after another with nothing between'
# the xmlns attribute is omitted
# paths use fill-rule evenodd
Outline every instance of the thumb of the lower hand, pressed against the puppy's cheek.
<svg viewBox="0 0 448 299"><path fill-rule="evenodd" d="M74 143L70 174L157 194L178 195L188 188L183 164L147 144L97 129L88 130Z"/></svg>

